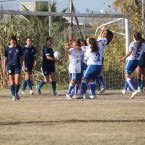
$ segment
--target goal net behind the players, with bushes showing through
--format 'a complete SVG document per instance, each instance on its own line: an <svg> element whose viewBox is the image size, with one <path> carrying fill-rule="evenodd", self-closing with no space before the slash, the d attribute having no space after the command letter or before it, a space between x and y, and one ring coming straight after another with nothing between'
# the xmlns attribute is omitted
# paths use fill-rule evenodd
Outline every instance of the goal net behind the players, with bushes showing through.
<svg viewBox="0 0 145 145"><path fill-rule="evenodd" d="M74 38L97 37L100 28L105 26L114 32L113 41L105 50L105 61L103 75L107 89L121 89L124 82L123 65L118 63L118 59L125 54L126 41L125 19L124 15L113 14L69 14L57 13L55 6L51 8L52 12L32 12L26 6L23 11L0 10L0 51L2 63L3 48L9 42L9 37L14 34L18 37L20 45L25 45L25 38L31 36L33 44L37 48L37 67L34 69L34 82L42 77L40 72L41 51L44 40L49 35L54 38L54 49L63 54L63 65L57 67L57 79L59 83L68 83L68 63L65 59L64 43L68 42L70 36ZM40 10L40 7L38 7ZM42 7L41 7L42 9ZM46 10L45 6L43 9ZM1 65L2 66L2 65ZM2 67L0 68L2 70ZM0 71L1 84L5 77Z"/></svg>

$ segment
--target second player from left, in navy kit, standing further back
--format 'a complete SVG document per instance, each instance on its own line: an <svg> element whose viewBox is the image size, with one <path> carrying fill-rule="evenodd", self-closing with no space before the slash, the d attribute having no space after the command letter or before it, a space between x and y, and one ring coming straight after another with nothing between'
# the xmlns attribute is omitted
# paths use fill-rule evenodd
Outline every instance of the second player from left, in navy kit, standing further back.
<svg viewBox="0 0 145 145"><path fill-rule="evenodd" d="M28 86L30 90L30 95L33 94L32 90L32 83L31 83L31 73L33 66L36 65L36 49L34 46L32 46L32 38L27 37L26 38L26 45L22 49L23 51L23 66L22 69L24 71L24 81L23 81L23 86L22 86L22 94L25 94L25 89Z"/></svg>

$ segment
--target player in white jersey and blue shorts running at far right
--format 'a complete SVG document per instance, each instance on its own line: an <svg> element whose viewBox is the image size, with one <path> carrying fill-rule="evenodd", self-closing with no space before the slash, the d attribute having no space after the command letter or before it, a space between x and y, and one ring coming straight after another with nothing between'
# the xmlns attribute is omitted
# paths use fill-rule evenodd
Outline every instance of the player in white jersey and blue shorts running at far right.
<svg viewBox="0 0 145 145"><path fill-rule="evenodd" d="M139 61L141 59L141 55L145 52L145 44L143 43L142 36L139 32L135 32L133 35L133 41L130 43L128 53L123 56L119 61L125 61L125 91L127 90L128 86L132 91L132 95L130 99L133 99L137 94L137 91L132 83L131 80L131 73L139 65Z"/></svg>

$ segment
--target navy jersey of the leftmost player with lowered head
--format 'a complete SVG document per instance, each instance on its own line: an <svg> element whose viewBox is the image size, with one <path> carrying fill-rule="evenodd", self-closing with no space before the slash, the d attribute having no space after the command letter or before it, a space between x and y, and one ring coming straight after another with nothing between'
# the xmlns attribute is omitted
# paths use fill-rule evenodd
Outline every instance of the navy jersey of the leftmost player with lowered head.
<svg viewBox="0 0 145 145"><path fill-rule="evenodd" d="M22 48L17 45L16 47L7 46L4 50L4 56L7 58L7 66L21 66Z"/></svg>

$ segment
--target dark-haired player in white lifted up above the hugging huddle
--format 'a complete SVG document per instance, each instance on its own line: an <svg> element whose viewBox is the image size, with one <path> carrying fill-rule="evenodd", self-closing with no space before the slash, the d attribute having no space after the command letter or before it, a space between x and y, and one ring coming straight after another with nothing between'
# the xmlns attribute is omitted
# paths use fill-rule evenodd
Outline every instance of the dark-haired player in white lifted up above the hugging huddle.
<svg viewBox="0 0 145 145"><path fill-rule="evenodd" d="M100 35L97 39L98 46L99 46L99 49L100 49L100 53L103 56L103 62L104 62L105 48L112 41L112 39L113 39L113 32L110 31L109 29L104 29L100 33ZM103 93L105 91L105 83L104 83L104 78L103 78L103 73L102 72L97 76L97 83L98 83L98 86L99 86L99 89L100 89L100 91L98 93L99 94Z"/></svg>

